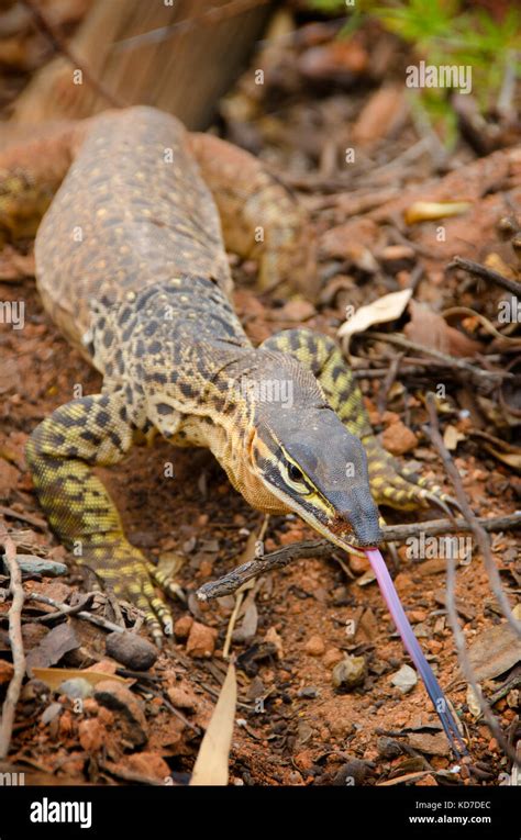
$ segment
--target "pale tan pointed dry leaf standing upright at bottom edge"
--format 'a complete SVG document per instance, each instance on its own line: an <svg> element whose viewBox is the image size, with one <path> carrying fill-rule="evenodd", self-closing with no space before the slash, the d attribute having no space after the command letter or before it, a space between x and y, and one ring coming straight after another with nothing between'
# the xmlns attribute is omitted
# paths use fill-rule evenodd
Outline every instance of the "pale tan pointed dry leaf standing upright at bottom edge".
<svg viewBox="0 0 521 840"><path fill-rule="evenodd" d="M230 662L226 679L196 759L190 786L228 785L236 703L235 665Z"/></svg>

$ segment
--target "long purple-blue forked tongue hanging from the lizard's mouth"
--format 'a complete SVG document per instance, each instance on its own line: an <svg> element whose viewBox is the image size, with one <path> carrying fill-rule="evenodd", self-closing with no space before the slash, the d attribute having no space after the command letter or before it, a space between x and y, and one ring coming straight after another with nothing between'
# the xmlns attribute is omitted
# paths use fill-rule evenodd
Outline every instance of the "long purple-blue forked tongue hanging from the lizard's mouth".
<svg viewBox="0 0 521 840"><path fill-rule="evenodd" d="M373 567L373 571L375 572L376 580L378 581L381 594L386 600L386 604L389 607L389 613L392 616L396 628L400 634L401 640L421 679L423 680L423 684L428 691L436 714L442 721L445 735L448 738L454 752L456 755L466 753L467 748L465 747L465 742L459 735L457 724L454 720L446 697L443 694L443 691L441 690L440 684L432 672L431 665L423 656L423 651L420 648L418 639L414 636L411 625L409 624L409 619L403 611L403 607L401 606L398 592L395 589L395 584L392 583L392 579L389 574L384 558L377 548L365 549L365 553L367 555L368 560Z"/></svg>

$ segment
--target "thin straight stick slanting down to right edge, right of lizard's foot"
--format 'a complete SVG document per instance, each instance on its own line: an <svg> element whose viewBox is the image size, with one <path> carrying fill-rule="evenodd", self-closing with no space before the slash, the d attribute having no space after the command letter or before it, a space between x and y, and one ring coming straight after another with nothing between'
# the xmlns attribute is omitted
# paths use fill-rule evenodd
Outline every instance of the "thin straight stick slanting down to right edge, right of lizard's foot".
<svg viewBox="0 0 521 840"><path fill-rule="evenodd" d="M459 503L462 513L465 516L466 520L468 522L470 526L470 530L476 537L476 542L478 544L479 550L481 551L481 556L485 562L485 569L488 575L488 580L490 582L490 587L494 594L496 595L497 602L500 605L503 614L507 616L507 619L509 624L511 625L512 629L521 638L521 621L516 620L513 613L510 609L510 604L508 603L508 598L502 590L501 579L499 576L499 572L497 570L496 563L494 562L494 558L490 552L490 542L488 540L487 534L485 529L479 525L476 514L474 513L470 505L468 504L467 494L465 493L465 490L462 484L462 477L459 475L457 467L454 463L451 457L451 453L448 449L446 448L445 444L443 443L443 438L440 434L440 428L437 425L435 396L432 392L426 394L426 407L429 411L431 427L429 428L428 426L424 426L423 428L429 435L429 437L431 438L433 446L437 450L437 453L440 455L440 458L443 461L443 466L445 467L448 478L451 479L453 483L454 492Z"/></svg>

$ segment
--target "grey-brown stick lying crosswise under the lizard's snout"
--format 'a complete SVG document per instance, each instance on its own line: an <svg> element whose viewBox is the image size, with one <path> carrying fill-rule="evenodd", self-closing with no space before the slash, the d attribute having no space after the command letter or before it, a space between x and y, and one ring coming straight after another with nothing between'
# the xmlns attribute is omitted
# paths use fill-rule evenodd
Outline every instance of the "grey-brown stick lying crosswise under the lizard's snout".
<svg viewBox="0 0 521 840"><path fill-rule="evenodd" d="M513 514L511 516L492 516L488 519L478 519L479 525L489 531L508 530L509 528L521 527L521 516ZM403 542L409 537L420 537L425 531L430 535L443 533L457 533L472 530L466 519L429 519L413 525L386 525L381 528L386 541ZM290 546L271 551L263 558L251 560L247 563L237 565L229 574L224 574L217 581L204 583L197 592L200 601L211 601L212 598L230 595L235 592L243 583L259 574L281 569L285 565L306 557L331 557L337 549L325 539L308 540L306 542L293 542Z"/></svg>

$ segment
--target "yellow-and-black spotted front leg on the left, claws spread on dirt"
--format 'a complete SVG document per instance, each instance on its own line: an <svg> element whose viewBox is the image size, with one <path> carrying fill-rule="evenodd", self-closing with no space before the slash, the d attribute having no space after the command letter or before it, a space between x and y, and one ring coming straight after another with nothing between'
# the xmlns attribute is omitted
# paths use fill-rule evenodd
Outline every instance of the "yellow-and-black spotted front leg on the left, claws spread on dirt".
<svg viewBox="0 0 521 840"><path fill-rule="evenodd" d="M59 540L117 595L144 611L154 639L171 634L173 616L153 581L169 582L124 536L119 513L92 467L118 463L134 428L121 392L62 405L32 433L26 460L40 504Z"/></svg>

